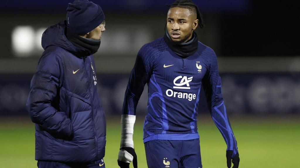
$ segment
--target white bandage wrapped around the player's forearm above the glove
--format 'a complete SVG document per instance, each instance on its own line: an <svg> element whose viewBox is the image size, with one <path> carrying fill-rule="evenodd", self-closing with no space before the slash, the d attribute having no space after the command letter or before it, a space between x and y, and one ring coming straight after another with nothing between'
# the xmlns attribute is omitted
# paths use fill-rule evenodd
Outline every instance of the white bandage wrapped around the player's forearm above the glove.
<svg viewBox="0 0 300 168"><path fill-rule="evenodd" d="M120 147L131 147L133 145L133 127L135 115L122 115L121 117L121 144Z"/></svg>

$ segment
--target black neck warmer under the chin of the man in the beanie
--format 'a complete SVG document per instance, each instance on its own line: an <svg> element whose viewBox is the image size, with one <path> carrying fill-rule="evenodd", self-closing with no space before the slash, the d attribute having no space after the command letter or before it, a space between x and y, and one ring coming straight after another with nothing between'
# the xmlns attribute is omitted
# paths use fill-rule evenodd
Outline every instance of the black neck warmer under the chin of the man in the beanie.
<svg viewBox="0 0 300 168"><path fill-rule="evenodd" d="M66 32L67 39L76 47L84 49L85 54L79 57L89 56L91 54L95 54L101 44L101 40L88 39L84 37L80 37L79 35L73 34L70 31Z"/></svg>

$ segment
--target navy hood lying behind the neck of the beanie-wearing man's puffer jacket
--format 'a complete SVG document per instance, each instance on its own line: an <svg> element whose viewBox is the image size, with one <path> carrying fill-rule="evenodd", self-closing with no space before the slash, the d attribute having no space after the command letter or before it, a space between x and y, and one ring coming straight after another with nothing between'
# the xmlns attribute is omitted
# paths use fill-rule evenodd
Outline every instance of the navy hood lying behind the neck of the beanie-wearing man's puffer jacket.
<svg viewBox="0 0 300 168"><path fill-rule="evenodd" d="M66 37L66 21L58 22L55 25L47 28L42 36L42 47L46 50L47 47L55 45L66 49L70 53L82 57L87 56L88 51L74 46Z"/></svg>

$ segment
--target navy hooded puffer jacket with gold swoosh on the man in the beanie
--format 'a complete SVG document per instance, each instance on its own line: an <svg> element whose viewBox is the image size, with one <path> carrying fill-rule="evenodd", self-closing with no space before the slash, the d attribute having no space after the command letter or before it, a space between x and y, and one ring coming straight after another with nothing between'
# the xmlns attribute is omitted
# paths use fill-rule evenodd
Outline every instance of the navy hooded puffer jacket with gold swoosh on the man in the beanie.
<svg viewBox="0 0 300 168"><path fill-rule="evenodd" d="M104 157L106 119L95 62L65 36L65 22L43 34L27 109L35 124L38 161L92 162Z"/></svg>

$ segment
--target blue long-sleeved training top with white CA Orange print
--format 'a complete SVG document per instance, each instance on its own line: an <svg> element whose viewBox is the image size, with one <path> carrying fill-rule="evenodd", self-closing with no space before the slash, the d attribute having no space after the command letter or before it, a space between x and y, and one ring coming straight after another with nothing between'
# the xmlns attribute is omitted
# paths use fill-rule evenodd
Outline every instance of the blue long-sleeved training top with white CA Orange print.
<svg viewBox="0 0 300 168"><path fill-rule="evenodd" d="M136 115L137 103L148 84L148 114L144 143L150 140L191 140L197 131L201 84L214 123L227 143L238 152L224 106L221 78L214 51L198 42L195 54L182 58L161 37L145 44L137 54L125 92L122 114Z"/></svg>

